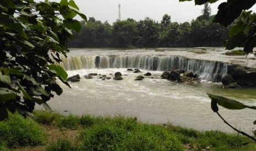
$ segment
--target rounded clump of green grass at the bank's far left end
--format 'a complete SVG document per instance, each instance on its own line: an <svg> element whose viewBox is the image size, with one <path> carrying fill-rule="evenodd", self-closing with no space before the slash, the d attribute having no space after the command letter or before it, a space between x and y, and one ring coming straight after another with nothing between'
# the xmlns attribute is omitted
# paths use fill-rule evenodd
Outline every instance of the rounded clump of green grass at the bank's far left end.
<svg viewBox="0 0 256 151"><path fill-rule="evenodd" d="M45 143L45 132L41 125L24 119L19 114L11 114L0 123L0 144L9 148L18 146L38 146Z"/></svg>

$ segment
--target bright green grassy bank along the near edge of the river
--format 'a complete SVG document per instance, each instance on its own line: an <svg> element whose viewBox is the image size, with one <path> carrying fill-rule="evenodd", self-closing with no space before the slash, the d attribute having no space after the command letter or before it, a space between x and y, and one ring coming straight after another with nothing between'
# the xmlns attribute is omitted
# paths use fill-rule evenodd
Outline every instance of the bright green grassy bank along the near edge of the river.
<svg viewBox="0 0 256 151"><path fill-rule="evenodd" d="M0 123L0 135L0 150L256 150L255 143L244 146L250 140L237 134L145 124L120 115L65 117L40 111L31 121L14 114Z"/></svg>

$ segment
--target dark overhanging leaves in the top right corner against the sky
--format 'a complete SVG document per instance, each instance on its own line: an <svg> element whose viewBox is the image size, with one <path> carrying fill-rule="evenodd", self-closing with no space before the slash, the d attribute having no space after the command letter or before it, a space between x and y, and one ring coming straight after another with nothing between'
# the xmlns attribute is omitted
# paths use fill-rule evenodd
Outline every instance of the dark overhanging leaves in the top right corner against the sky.
<svg viewBox="0 0 256 151"><path fill-rule="evenodd" d="M179 0L192 1L192 0ZM194 0L195 4L201 5L207 2L215 3L219 0ZM223 2L218 7L218 12L213 22L220 23L227 27L238 17L235 25L229 32L229 39L225 43L226 49L231 50L235 47L243 47L245 53L252 53L256 45L256 14L252 11L246 11L256 3L252 1L230 0Z"/></svg>

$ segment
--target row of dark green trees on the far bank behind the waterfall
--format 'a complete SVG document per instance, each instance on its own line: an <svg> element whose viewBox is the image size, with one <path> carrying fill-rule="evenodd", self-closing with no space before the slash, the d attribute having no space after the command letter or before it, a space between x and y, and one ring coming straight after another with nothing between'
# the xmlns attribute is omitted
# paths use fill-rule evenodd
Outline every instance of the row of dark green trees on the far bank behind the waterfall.
<svg viewBox="0 0 256 151"><path fill-rule="evenodd" d="M228 29L213 23L210 9L206 6L202 15L191 22L171 22L171 16L165 14L161 22L150 18L135 21L127 19L108 22L89 18L81 21L82 28L70 40L73 48L103 47L221 47L228 38Z"/></svg>

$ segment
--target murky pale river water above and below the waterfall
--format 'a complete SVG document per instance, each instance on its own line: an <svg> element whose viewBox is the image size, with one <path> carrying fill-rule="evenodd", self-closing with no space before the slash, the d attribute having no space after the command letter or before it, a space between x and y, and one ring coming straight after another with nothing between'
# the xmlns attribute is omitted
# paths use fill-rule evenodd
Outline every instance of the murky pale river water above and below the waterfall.
<svg viewBox="0 0 256 151"><path fill-rule="evenodd" d="M149 70L148 67L144 67L144 65L139 66L141 73L133 73L127 71L127 67L123 67L123 65L120 65L118 68L116 66L110 67L112 65L103 67L103 65L99 66L99 63L99 65L97 65L96 61L96 56L130 55L129 57L131 57L138 54L161 57L179 55L199 60L223 61L223 65L225 65L225 62L228 63L232 60L231 57L221 55L225 52L222 48L211 48L206 50L207 53L203 55L188 53L187 49L164 50L165 51L155 51L153 49L72 50L68 54L69 58L72 58L72 56L90 56L91 59L89 59L90 61L82 63L83 67L70 68L70 70L67 71L69 76L80 74L80 82L70 83L72 89L59 83L64 90L63 94L61 96L56 95L48 104L50 104L53 111L63 114L122 114L137 117L140 121L145 123L158 124L170 122L181 126L192 127L197 130L221 130L225 132L233 132L233 130L231 130L216 113L211 111L210 98L206 92L235 98L242 103L256 106L256 89L254 88L224 89L221 83L208 80L207 76L203 77L203 80L199 84L180 84L161 79L160 75L163 71L157 70L159 69L157 67L152 71ZM239 59L244 60L243 57ZM79 61L74 59L73 61L79 64ZM71 63L76 64L74 62ZM110 61L105 63L110 63ZM250 60L250 63L252 64L253 62ZM129 63L125 64L130 65ZM62 64L62 66L64 67L65 65ZM204 67L203 64L197 64L195 66ZM218 66L218 68L220 67L226 68L226 66ZM210 70L213 69L210 68L209 71ZM118 71L123 74L123 80L113 80L113 75L111 74L115 74L115 72ZM219 71L222 75L225 74L226 69L219 69ZM143 75L146 72L150 72L152 75L149 77L145 76L146 78L141 81L134 80L138 75ZM105 74L111 77L111 79L102 80L99 78L99 75L95 76L93 79L85 79L83 76L89 73ZM203 74L204 71L199 73ZM253 121L256 120L256 117L254 116L255 111L252 109L237 111L219 106L219 113L239 130L251 132L252 128L255 127Z"/></svg>

